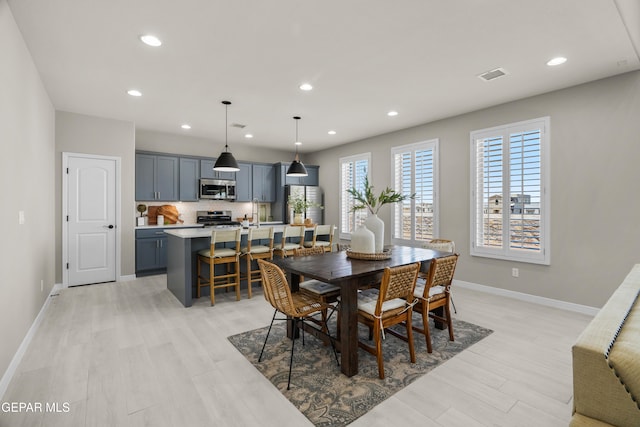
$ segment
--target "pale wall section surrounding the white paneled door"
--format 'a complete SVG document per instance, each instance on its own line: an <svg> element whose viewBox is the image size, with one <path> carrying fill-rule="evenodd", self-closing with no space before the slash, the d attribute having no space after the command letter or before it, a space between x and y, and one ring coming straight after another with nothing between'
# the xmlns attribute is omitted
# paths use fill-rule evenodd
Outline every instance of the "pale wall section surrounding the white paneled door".
<svg viewBox="0 0 640 427"><path fill-rule="evenodd" d="M56 111L56 281L62 282L62 153L120 158L121 271L135 274L135 126L133 122Z"/></svg>

